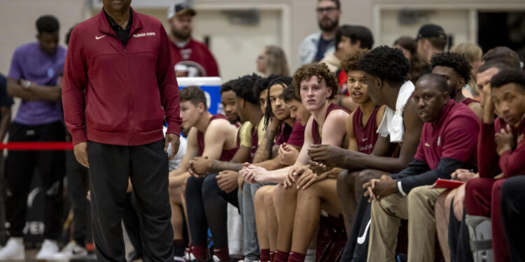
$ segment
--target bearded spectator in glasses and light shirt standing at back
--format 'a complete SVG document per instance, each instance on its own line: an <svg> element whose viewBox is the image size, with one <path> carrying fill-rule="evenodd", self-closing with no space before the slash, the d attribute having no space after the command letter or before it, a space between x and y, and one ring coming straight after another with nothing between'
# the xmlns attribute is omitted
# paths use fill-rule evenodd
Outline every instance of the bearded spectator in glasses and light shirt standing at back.
<svg viewBox="0 0 525 262"><path fill-rule="evenodd" d="M341 17L339 0L317 1L317 22L321 31L304 38L299 45L299 66L321 61L326 54L335 51L335 30Z"/></svg>

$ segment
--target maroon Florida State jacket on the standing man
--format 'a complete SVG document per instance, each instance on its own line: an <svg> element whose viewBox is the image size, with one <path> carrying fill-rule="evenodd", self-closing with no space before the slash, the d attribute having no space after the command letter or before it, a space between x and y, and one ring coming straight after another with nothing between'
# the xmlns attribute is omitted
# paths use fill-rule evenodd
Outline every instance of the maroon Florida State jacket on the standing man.
<svg viewBox="0 0 525 262"><path fill-rule="evenodd" d="M101 11L78 24L69 40L62 101L77 144L145 145L179 134L179 88L160 21L132 10L124 46ZM164 110L162 109L164 108Z"/></svg>

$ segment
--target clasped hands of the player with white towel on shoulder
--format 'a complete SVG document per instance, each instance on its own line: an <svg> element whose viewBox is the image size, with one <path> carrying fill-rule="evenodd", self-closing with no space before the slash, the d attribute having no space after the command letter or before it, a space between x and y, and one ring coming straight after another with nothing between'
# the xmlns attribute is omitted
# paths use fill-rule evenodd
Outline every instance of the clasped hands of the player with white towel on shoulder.
<svg viewBox="0 0 525 262"><path fill-rule="evenodd" d="M325 164L327 170L339 167L343 163L346 154L350 152L334 145L311 145L308 154L312 161Z"/></svg>

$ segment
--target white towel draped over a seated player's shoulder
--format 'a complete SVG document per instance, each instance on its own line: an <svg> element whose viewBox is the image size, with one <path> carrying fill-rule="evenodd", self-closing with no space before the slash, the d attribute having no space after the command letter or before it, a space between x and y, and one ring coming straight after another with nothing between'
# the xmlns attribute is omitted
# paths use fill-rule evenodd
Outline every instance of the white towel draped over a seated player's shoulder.
<svg viewBox="0 0 525 262"><path fill-rule="evenodd" d="M386 137L390 135L391 143L400 143L405 134L405 124L403 124L403 112L408 99L414 93L414 84L405 82L399 89L398 100L395 101L395 111L388 106L384 110L383 120L377 128L377 133Z"/></svg>

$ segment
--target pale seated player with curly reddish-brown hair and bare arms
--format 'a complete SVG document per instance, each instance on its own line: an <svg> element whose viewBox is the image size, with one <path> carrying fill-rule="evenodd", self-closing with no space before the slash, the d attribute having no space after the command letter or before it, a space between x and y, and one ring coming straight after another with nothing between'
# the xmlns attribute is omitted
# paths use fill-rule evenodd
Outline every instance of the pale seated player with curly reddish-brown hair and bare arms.
<svg viewBox="0 0 525 262"><path fill-rule="evenodd" d="M274 261L287 261L293 222L295 216L295 202L297 200L296 185L288 180L290 174L292 180L296 180L297 174L304 173L297 178L297 185L309 187L311 184L325 184L324 177L319 177L304 166L308 163L307 150L314 143L326 143L346 147L346 130L339 126L346 124L348 112L344 108L330 103L337 94L337 83L333 75L328 71L328 66L320 63L307 64L299 68L293 76L293 85L297 87L296 95L301 97L302 104L311 117L304 131L304 144L294 166L268 171L265 168L249 165L244 172L245 180L248 182L283 182L286 179L287 189L277 187L275 194L283 195L283 205L279 208L279 233L276 245ZM346 138L346 139L345 139ZM330 210L331 211L331 210ZM337 216L338 214L336 214ZM309 241L309 240L308 240ZM304 255L303 255L304 259Z"/></svg>

